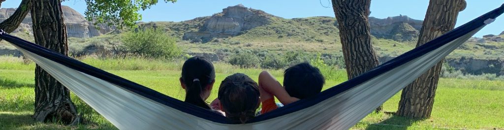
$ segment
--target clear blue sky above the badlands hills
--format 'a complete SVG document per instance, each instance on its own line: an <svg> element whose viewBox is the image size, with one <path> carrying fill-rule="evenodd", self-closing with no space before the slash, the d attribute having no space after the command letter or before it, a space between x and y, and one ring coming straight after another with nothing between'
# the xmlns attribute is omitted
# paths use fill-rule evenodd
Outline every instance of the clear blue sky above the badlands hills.
<svg viewBox="0 0 504 130"><path fill-rule="evenodd" d="M159 0L163 1L163 0ZM459 13L457 26L478 17L496 7L504 0L466 0L467 7ZM2 7L17 7L20 0L6 0ZM227 6L243 4L247 7L261 9L284 18L308 16L332 16L334 12L328 0L178 0L175 3L160 2L150 9L141 11L142 21L182 21L199 16L208 16L222 11ZM67 0L63 3L84 14L84 0ZM322 5L321 5L322 4ZM408 15L423 20L428 0L371 0L371 15L377 18ZM479 31L475 36L499 34L504 31L504 15Z"/></svg>

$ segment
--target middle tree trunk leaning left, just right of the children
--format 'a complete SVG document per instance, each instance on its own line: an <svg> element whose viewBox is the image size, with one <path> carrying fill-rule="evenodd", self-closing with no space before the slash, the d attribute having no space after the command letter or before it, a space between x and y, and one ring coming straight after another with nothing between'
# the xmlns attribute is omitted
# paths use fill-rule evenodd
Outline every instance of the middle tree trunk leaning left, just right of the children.
<svg viewBox="0 0 504 130"><path fill-rule="evenodd" d="M369 6L371 0L332 0L338 20L348 78L354 78L380 64L371 45ZM376 111L382 110L382 106Z"/></svg>

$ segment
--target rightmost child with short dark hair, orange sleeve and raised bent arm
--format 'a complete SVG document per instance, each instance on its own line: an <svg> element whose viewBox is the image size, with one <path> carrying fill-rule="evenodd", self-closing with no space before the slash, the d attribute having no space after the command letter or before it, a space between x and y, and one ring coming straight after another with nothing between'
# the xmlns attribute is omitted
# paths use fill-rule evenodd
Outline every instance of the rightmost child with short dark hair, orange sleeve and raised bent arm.
<svg viewBox="0 0 504 130"><path fill-rule="evenodd" d="M261 93L261 114L278 108L276 96L283 104L289 104L299 99L314 96L322 91L325 78L319 68L307 62L287 68L284 72L284 86L268 71L259 74L259 91Z"/></svg>

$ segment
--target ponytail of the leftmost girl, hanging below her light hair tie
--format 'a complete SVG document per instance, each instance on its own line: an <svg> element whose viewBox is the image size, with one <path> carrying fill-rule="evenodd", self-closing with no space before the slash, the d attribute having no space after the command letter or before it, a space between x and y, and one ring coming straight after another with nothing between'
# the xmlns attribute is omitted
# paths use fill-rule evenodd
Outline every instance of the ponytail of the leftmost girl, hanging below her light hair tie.
<svg viewBox="0 0 504 130"><path fill-rule="evenodd" d="M200 107L203 107L205 109L211 109L210 105L203 100L201 97L201 93L203 92L203 88L200 83L200 79L195 78L193 80L193 83L191 84L191 87L186 88L185 92L185 102L191 103Z"/></svg>

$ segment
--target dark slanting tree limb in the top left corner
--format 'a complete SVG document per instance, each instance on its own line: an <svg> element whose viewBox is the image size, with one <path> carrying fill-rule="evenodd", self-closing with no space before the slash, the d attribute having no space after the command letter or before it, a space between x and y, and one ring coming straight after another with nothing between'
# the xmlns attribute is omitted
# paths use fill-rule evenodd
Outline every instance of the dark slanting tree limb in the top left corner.
<svg viewBox="0 0 504 130"><path fill-rule="evenodd" d="M0 0L2 1L2 0ZM26 17L26 14L30 11L31 0L23 0L19 4L16 11L6 20L0 23L0 29L4 30L7 33L11 33L12 31L18 28L19 24Z"/></svg>

